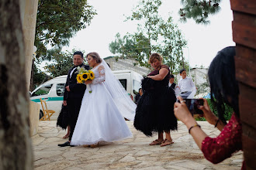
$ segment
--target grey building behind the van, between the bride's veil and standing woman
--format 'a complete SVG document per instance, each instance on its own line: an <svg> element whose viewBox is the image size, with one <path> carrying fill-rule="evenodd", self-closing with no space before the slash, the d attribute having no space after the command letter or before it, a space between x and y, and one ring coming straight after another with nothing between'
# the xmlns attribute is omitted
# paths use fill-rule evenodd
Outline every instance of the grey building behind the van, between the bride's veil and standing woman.
<svg viewBox="0 0 256 170"><path fill-rule="evenodd" d="M134 63L137 63L135 59L121 59L119 58L116 61L116 58L109 56L105 58L106 63L109 63L109 66L112 71L115 70L133 70L141 75L147 75L150 73L150 69L145 66L134 66Z"/></svg>

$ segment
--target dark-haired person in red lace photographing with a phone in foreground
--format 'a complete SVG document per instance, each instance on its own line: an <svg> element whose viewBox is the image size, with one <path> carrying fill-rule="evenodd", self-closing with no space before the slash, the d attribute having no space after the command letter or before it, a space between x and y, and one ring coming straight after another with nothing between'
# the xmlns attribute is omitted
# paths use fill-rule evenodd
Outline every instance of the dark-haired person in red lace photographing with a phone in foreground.
<svg viewBox="0 0 256 170"><path fill-rule="evenodd" d="M204 105L199 107L203 111L206 121L221 131L220 135L216 138L209 138L192 117L182 97L178 97L180 103L175 103L175 116L187 126L189 134L192 135L205 158L213 164L222 162L226 158L230 158L234 152L243 149L242 125L238 107L239 89L235 77L234 56L235 47L226 47L217 53L209 66L211 102L216 107L218 117L210 110L206 99L203 99ZM225 113L224 104L229 105L234 110L228 124L223 116ZM245 169L244 162L242 169Z"/></svg>

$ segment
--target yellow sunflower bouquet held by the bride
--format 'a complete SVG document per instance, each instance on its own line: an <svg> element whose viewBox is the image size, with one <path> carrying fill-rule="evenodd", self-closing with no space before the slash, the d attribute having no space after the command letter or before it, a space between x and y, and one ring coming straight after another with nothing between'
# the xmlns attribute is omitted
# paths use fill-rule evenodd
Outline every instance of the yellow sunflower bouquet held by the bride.
<svg viewBox="0 0 256 170"><path fill-rule="evenodd" d="M86 80L93 80L95 78L94 73L92 70L85 70L84 67L78 66L78 75L77 75L77 81L78 83L85 83ZM92 89L90 87L90 84L87 84L89 93L92 93Z"/></svg>

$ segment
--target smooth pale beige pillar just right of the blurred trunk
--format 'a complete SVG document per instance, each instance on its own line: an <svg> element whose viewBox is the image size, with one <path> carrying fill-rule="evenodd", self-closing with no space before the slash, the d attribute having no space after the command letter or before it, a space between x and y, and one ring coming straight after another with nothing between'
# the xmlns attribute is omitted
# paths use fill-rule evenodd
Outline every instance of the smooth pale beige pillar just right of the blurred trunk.
<svg viewBox="0 0 256 170"><path fill-rule="evenodd" d="M35 42L36 32L36 14L38 0L20 0L21 2L21 15L22 15L22 29L25 42L26 54L26 87L29 92L31 66L33 59L33 46Z"/></svg>

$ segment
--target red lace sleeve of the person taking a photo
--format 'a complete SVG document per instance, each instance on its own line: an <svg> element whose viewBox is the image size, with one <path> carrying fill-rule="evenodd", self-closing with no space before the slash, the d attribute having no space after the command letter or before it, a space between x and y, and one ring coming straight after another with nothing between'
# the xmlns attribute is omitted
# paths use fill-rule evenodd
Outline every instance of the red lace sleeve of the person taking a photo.
<svg viewBox="0 0 256 170"><path fill-rule="evenodd" d="M206 137L202 141L202 153L209 162L217 164L242 149L242 126L235 114L216 138Z"/></svg>

